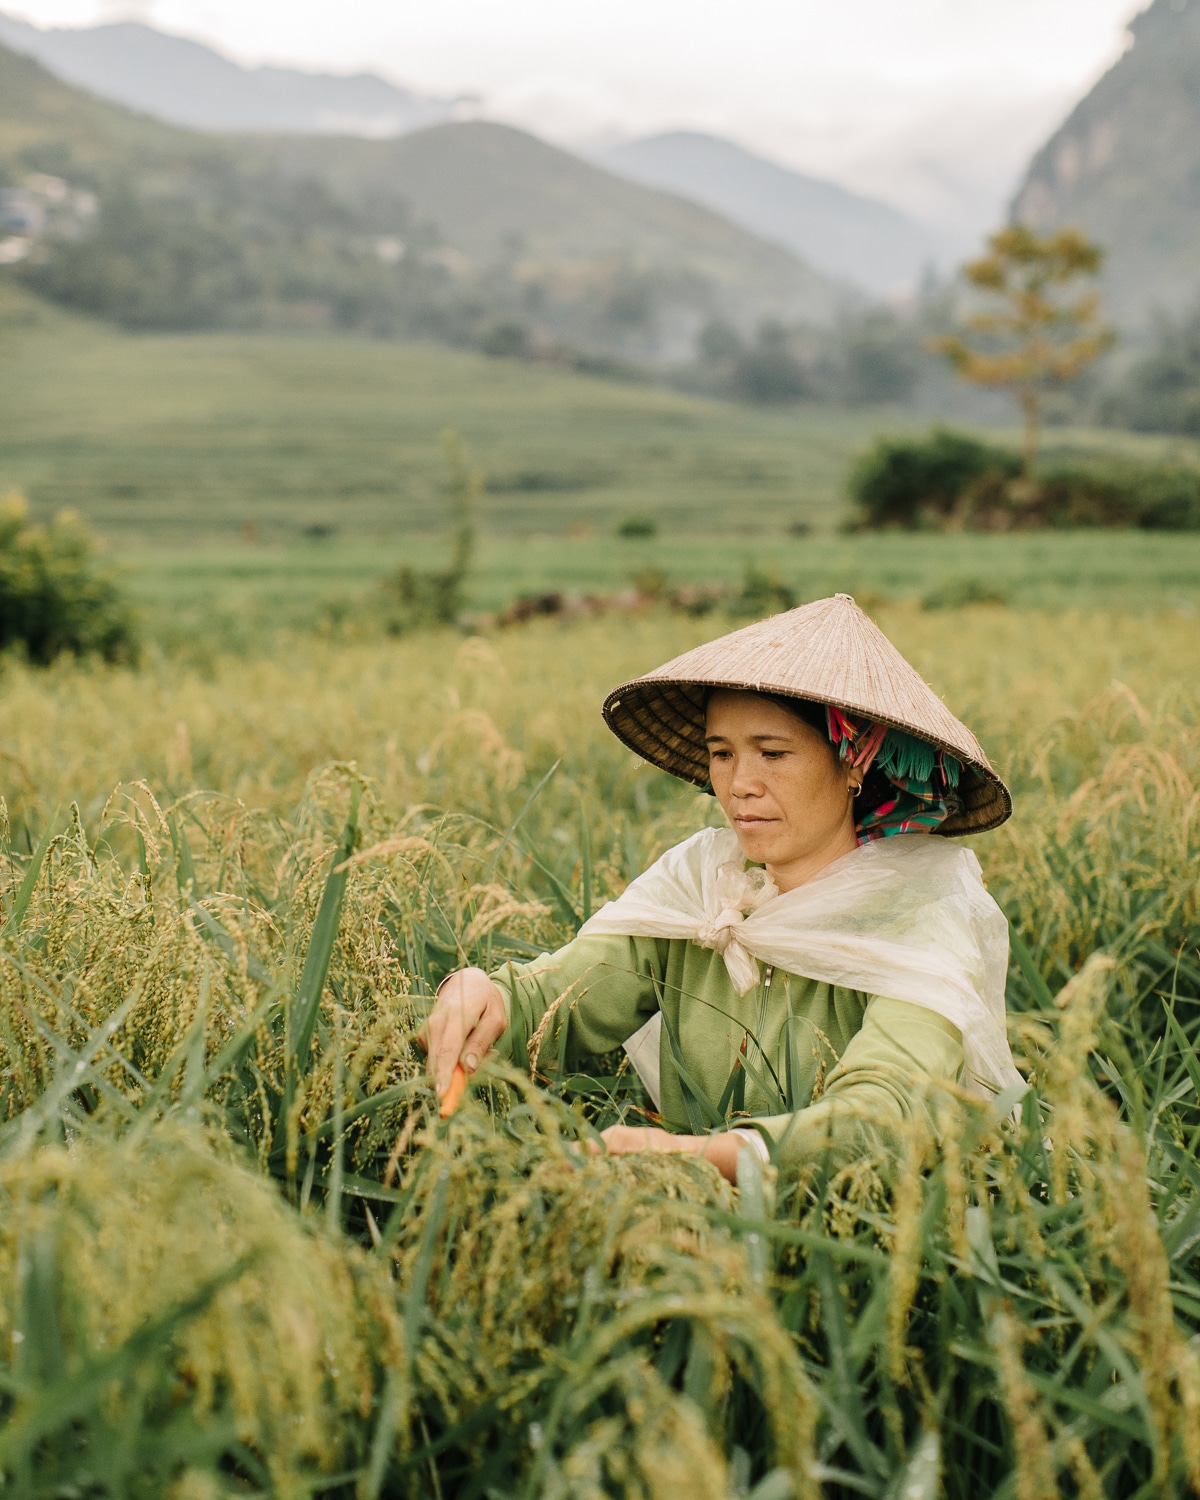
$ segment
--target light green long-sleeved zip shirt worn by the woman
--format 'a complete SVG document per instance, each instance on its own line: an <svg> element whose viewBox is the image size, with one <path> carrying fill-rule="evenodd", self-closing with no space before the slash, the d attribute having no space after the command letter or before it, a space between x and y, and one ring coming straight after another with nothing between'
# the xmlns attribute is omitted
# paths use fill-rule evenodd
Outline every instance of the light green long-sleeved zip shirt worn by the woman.
<svg viewBox="0 0 1200 1500"><path fill-rule="evenodd" d="M528 1065L530 1041L560 996L543 1064L558 1052L564 1014L574 1062L620 1047L662 1010L662 1114L675 1131L692 1124L668 1028L692 1084L714 1108L744 1046L744 1116L730 1124L753 1120L778 1143L784 1168L886 1150L896 1126L922 1107L920 1082L957 1078L963 1066L957 1028L934 1011L780 970L770 992L760 980L738 994L724 958L682 939L576 938L492 978L508 1008L496 1050L519 1066ZM824 1068L831 1068L825 1090L808 1104ZM788 1098L807 1107L782 1113Z"/></svg>

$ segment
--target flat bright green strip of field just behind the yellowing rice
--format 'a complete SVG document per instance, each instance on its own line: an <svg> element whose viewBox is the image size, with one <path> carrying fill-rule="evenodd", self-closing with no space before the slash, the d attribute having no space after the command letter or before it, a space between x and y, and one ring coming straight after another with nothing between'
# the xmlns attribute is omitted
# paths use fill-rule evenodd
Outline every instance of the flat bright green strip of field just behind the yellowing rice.
<svg viewBox="0 0 1200 1500"><path fill-rule="evenodd" d="M435 538L386 544L352 537L291 546L225 544L124 552L128 586L154 639L198 634L254 645L279 628L314 624L370 630L380 578L402 561L434 566ZM1018 609L1200 610L1200 536L1052 532L1041 536L790 537L786 532L622 542L600 534L486 537L468 588L474 610L520 594L620 594L644 570L668 584L738 586L744 568L776 573L798 598L850 592L924 600L963 585L992 590Z"/></svg>

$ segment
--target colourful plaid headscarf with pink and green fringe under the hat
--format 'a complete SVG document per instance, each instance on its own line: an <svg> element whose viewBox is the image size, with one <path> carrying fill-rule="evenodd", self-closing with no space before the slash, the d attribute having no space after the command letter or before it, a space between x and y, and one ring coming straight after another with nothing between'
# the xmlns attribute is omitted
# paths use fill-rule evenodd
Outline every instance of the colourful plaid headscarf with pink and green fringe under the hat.
<svg viewBox="0 0 1200 1500"><path fill-rule="evenodd" d="M878 766L890 783L890 795L861 813L860 843L892 834L933 832L957 810L954 789L962 765L952 754L903 729L854 718L840 708L826 708L825 718L838 756L848 765Z"/></svg>

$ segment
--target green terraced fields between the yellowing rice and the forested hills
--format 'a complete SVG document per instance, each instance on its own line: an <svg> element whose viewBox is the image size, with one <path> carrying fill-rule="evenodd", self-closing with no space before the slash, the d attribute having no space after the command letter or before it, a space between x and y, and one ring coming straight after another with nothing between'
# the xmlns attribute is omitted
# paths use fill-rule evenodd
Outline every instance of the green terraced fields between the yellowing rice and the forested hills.
<svg viewBox="0 0 1200 1500"><path fill-rule="evenodd" d="M926 420L754 411L423 345L132 336L0 280L0 492L22 489L34 518L78 510L165 640L244 644L362 615L356 602L390 568L436 564L446 428L489 482L470 588L480 610L620 592L644 568L732 585L748 564L806 598L976 582L1022 608L1200 604L1200 537L838 536L855 453ZM1197 450L1065 429L1052 441ZM618 538L630 514L656 518L658 537ZM812 534L789 534L796 522Z"/></svg>

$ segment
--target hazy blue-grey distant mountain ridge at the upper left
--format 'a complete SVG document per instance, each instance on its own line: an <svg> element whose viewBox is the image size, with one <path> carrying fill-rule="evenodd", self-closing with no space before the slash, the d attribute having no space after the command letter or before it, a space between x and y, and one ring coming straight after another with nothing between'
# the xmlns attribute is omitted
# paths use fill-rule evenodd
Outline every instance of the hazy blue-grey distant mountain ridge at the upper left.
<svg viewBox="0 0 1200 1500"><path fill-rule="evenodd" d="M447 120L460 102L423 98L374 74L242 68L136 21L42 30L0 15L0 44L100 99L196 130L387 136Z"/></svg>

